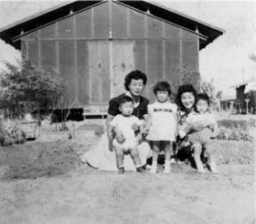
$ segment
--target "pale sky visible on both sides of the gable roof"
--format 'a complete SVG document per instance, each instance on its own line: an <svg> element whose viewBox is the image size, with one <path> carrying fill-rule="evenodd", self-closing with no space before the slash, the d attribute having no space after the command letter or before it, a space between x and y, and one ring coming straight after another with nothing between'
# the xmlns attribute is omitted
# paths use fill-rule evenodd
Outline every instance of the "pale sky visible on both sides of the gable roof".
<svg viewBox="0 0 256 224"><path fill-rule="evenodd" d="M63 1L62 1L63 2ZM225 29L214 42L200 50L201 76L213 81L216 90L256 79L256 0L255 1L171 1L155 0L178 12ZM19 19L44 11L61 1L3 1L0 0L0 28ZM14 62L20 52L0 40L0 69L3 61ZM4 52L4 53L3 53ZM251 58L250 58L251 56Z"/></svg>

